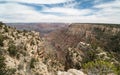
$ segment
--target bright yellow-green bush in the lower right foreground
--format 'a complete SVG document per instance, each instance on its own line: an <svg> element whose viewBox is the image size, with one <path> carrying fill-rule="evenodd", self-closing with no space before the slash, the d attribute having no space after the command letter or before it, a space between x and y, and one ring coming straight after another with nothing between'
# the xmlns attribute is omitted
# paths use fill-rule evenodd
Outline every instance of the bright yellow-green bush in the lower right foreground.
<svg viewBox="0 0 120 75"><path fill-rule="evenodd" d="M88 75L116 75L117 73L116 67L113 64L101 60L85 63L83 68Z"/></svg>

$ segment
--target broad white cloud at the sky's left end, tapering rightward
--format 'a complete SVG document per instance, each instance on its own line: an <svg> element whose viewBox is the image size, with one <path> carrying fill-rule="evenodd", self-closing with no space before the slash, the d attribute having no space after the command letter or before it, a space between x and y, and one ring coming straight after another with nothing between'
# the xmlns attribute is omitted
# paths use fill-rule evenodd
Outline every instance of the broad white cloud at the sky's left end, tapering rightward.
<svg viewBox="0 0 120 75"><path fill-rule="evenodd" d="M8 9L8 7L11 9ZM50 15L44 15L37 11L34 11L33 8L15 3L1 4L0 9L1 9L0 15L3 16L0 17L0 20L1 18L5 19L6 22L36 21L37 19L42 20L44 18L53 17Z"/></svg>

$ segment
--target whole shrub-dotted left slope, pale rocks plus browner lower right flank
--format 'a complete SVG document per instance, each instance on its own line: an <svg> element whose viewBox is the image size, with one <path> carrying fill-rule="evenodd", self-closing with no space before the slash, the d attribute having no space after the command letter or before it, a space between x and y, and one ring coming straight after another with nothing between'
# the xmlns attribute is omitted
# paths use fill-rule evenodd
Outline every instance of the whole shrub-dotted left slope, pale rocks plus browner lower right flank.
<svg viewBox="0 0 120 75"><path fill-rule="evenodd" d="M54 75L64 70L46 44L38 32L0 23L0 75Z"/></svg>

